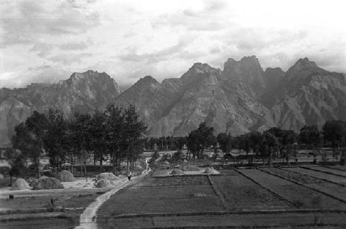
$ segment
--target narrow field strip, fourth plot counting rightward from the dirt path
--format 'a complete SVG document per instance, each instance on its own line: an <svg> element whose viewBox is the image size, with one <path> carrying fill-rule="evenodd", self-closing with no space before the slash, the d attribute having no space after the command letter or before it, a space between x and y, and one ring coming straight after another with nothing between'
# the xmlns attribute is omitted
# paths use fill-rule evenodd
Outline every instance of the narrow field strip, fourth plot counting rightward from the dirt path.
<svg viewBox="0 0 346 229"><path fill-rule="evenodd" d="M302 183L306 185L307 187L313 187L317 190L320 190L322 192L330 194L331 196L336 197L336 199L343 200L346 203L346 187L342 185L338 185L336 183L330 183L327 181L322 181L318 178L305 176L303 174L298 174L289 170L282 170L277 168L262 169L262 170L270 172L272 174L277 174L279 176L284 176L293 181Z"/></svg>

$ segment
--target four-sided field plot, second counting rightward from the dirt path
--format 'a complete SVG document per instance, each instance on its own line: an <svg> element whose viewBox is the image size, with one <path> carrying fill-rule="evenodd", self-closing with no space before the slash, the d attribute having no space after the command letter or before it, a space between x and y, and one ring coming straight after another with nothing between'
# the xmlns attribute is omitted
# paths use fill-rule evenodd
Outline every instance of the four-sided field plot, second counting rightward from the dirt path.
<svg viewBox="0 0 346 229"><path fill-rule="evenodd" d="M232 170L234 171L234 170ZM213 183L226 199L228 210L290 209L292 205L257 185L238 172L212 176Z"/></svg>

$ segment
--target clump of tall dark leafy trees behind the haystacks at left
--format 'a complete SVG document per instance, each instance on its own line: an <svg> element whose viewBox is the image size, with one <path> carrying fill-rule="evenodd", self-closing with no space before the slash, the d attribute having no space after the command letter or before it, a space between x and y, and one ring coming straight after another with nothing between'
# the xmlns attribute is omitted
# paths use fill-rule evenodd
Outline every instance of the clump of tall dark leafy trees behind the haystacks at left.
<svg viewBox="0 0 346 229"><path fill-rule="evenodd" d="M56 174L64 163L80 164L86 175L86 165L93 156L94 162L109 158L113 173L120 169L120 163L127 161L127 170L132 170L134 162L143 152L147 129L139 119L136 108L109 104L104 111L75 113L66 118L60 110L48 109L46 113L34 111L15 127L12 147L19 149L21 158L31 158L39 176L40 157L45 152L49 156L52 171Z"/></svg>

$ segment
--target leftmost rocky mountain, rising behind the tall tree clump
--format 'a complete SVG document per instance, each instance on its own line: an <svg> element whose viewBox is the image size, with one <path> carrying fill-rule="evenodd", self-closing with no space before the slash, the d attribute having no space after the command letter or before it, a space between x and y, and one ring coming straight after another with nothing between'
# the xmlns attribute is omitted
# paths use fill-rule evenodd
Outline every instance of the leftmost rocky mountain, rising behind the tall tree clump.
<svg viewBox="0 0 346 229"><path fill-rule="evenodd" d="M31 84L24 89L0 89L0 147L10 145L14 127L30 114L48 108L66 115L92 112L113 102L120 94L116 82L106 73L73 73L57 84Z"/></svg>

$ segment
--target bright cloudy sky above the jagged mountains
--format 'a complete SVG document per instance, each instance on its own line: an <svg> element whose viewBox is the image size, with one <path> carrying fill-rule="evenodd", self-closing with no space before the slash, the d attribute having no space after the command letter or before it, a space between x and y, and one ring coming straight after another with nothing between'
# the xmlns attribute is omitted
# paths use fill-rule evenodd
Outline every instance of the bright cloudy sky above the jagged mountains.
<svg viewBox="0 0 346 229"><path fill-rule="evenodd" d="M308 57L346 73L345 10L344 0L1 0L0 88L89 69L126 86L250 55L264 69Z"/></svg>

